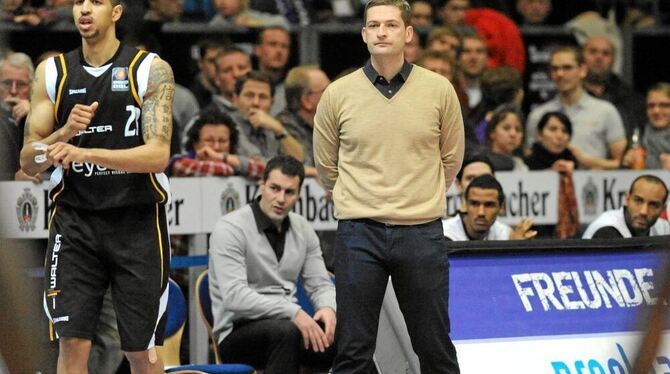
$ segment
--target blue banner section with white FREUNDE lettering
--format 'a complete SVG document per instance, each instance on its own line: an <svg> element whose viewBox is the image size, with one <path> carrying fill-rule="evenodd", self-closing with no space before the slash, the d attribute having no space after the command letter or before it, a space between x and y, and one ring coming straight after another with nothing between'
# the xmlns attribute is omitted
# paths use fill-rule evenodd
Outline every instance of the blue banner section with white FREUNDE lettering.
<svg viewBox="0 0 670 374"><path fill-rule="evenodd" d="M639 250L452 256L452 338L639 331L661 260Z"/></svg>

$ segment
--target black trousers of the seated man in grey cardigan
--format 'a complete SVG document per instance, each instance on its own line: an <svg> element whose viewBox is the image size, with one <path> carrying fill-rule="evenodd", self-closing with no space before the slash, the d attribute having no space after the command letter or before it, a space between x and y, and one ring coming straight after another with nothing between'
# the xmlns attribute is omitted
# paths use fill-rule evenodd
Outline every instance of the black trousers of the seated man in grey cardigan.
<svg viewBox="0 0 670 374"><path fill-rule="evenodd" d="M304 348L298 327L287 319L263 319L236 324L219 344L224 363L244 363L265 374L297 374L300 366L330 368L335 345L325 352Z"/></svg>

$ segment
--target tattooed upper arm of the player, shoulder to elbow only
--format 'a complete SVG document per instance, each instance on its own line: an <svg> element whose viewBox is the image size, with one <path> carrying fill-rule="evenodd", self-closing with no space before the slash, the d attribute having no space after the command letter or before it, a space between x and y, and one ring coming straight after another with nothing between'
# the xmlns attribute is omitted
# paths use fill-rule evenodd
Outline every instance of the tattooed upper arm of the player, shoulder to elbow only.
<svg viewBox="0 0 670 374"><path fill-rule="evenodd" d="M142 105L142 136L145 141L155 138L170 143L173 100L172 69L167 62L156 60L149 71L147 94Z"/></svg>

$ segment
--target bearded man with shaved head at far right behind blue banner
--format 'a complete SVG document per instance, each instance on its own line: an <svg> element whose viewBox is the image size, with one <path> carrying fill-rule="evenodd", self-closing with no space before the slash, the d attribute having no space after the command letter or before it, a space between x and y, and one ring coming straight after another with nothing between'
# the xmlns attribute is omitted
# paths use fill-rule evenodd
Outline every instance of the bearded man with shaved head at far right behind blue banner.
<svg viewBox="0 0 670 374"><path fill-rule="evenodd" d="M655 175L641 175L626 193L624 206L608 210L591 222L584 239L613 239L670 235L670 224L659 218L665 210L668 187Z"/></svg>

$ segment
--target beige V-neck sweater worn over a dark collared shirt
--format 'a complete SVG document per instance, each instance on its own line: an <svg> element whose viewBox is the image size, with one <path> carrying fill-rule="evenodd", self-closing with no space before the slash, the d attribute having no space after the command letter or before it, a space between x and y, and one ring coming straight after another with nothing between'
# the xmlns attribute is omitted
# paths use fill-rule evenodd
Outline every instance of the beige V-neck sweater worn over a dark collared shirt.
<svg viewBox="0 0 670 374"><path fill-rule="evenodd" d="M328 86L314 122L316 168L338 219L416 225L443 216L464 150L446 78L414 66L388 99L358 69Z"/></svg>

